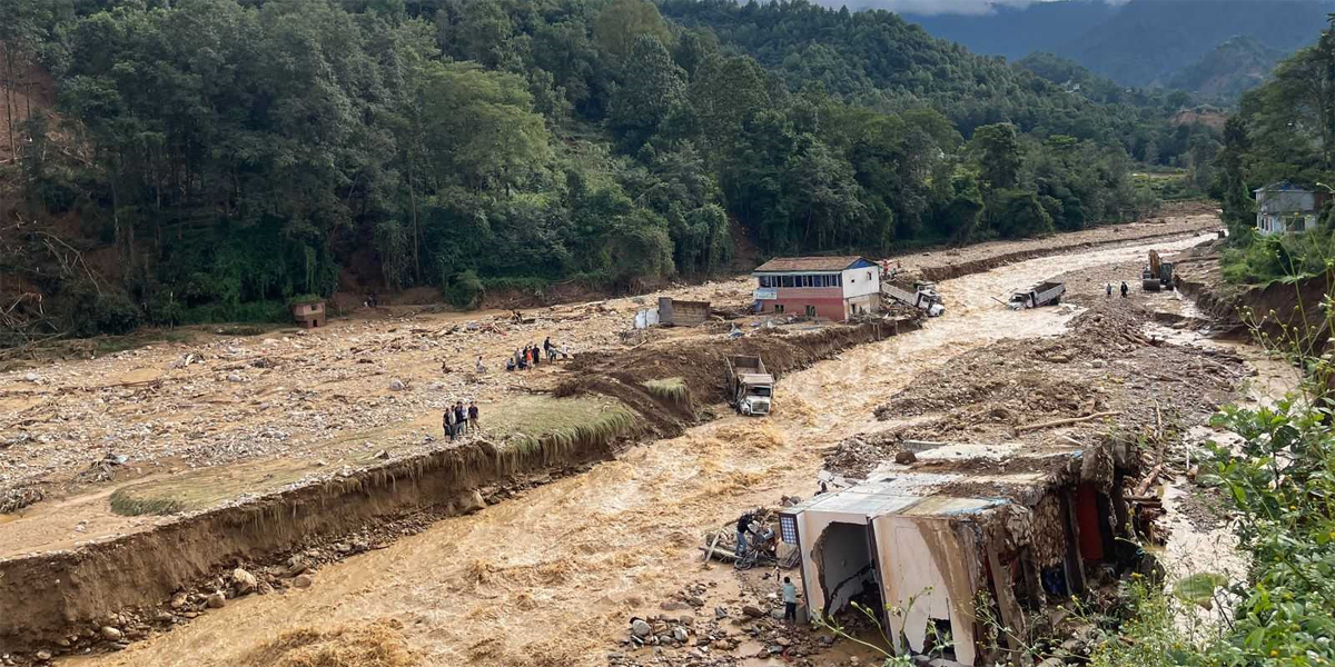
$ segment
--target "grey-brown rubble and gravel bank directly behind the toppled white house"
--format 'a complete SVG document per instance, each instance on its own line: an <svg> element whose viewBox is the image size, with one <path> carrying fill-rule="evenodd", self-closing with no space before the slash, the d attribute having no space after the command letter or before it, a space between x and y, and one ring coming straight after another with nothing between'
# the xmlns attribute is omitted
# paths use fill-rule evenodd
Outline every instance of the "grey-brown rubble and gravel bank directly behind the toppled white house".
<svg viewBox="0 0 1335 667"><path fill-rule="evenodd" d="M1080 439L1109 419L1145 431L1204 420L1248 371L1232 354L1147 334L1152 320L1140 307L1100 303L1060 336L1003 340L952 359L876 408L893 426L841 443L828 464L857 475L873 450L889 458L913 442L1043 443L1056 427Z"/></svg>

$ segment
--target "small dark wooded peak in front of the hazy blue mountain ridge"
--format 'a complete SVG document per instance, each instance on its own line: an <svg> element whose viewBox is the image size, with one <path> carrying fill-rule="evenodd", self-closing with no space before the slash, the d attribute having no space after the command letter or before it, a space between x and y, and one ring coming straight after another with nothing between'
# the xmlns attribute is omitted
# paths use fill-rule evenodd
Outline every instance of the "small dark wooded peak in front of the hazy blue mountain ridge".
<svg viewBox="0 0 1335 667"><path fill-rule="evenodd" d="M1260 85L1287 55L1255 37L1239 36L1173 72L1164 85L1189 91L1202 100L1231 103Z"/></svg>

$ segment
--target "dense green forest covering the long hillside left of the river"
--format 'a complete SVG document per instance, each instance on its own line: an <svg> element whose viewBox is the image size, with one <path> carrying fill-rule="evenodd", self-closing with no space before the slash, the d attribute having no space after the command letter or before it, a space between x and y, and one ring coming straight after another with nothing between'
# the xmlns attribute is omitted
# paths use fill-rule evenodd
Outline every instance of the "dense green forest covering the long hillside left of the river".
<svg viewBox="0 0 1335 667"><path fill-rule="evenodd" d="M630 289L742 239L880 255L1121 221L1153 205L1128 173L1169 111L802 1L0 9L0 343L300 293ZM11 104L47 76L49 105Z"/></svg>

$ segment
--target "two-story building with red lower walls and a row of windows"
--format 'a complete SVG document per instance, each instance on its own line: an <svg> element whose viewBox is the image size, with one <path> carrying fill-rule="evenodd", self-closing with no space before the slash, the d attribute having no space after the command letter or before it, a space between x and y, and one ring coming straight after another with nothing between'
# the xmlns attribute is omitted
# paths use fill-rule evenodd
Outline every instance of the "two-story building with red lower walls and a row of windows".
<svg viewBox="0 0 1335 667"><path fill-rule="evenodd" d="M864 257L778 257L752 275L760 312L845 321L881 303L881 267Z"/></svg>

